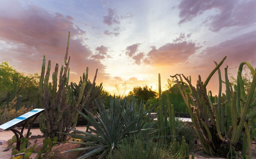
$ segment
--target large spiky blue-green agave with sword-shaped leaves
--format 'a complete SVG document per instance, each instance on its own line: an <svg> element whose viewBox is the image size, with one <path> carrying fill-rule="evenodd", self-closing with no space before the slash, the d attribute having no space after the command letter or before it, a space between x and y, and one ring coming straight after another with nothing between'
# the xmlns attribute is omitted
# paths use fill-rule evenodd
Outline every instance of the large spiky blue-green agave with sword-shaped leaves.
<svg viewBox="0 0 256 159"><path fill-rule="evenodd" d="M154 128L157 122L153 124L152 122L157 114L150 119L150 113L154 107L148 110L147 106L145 106L142 101L138 112L136 111L135 99L129 103L127 98L121 100L120 98L116 99L115 96L113 98L110 96L109 103L110 106L108 110L105 108L102 100L100 100L100 104L95 100L95 104L98 108L96 119L86 108L84 108L84 111L87 115L79 111L94 129L88 126L86 132L72 129L74 132L80 134L63 133L74 140L78 140L70 141L68 143L82 144L84 147L62 153L88 151L86 154L79 157L79 159L95 155L99 155L99 158L103 158L113 149L118 147L124 137L131 137L138 133L142 135L145 134L144 136L146 137L150 134L153 135L157 133L161 129L165 129Z"/></svg>

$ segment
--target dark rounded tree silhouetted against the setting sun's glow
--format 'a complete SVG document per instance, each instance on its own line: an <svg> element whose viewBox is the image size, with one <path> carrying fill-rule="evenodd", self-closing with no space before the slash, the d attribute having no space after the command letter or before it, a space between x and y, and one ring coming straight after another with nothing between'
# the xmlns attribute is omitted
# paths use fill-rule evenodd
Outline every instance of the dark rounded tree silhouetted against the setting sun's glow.
<svg viewBox="0 0 256 159"><path fill-rule="evenodd" d="M129 95L147 101L149 98L156 97L157 93L153 91L152 88L149 88L147 85L143 85L143 87L133 87L133 90L129 92Z"/></svg>

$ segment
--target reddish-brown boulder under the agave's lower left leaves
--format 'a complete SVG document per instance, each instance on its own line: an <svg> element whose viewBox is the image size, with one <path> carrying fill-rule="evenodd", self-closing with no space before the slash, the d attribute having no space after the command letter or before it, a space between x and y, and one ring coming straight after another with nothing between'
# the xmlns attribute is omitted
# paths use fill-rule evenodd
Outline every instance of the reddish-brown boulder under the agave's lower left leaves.
<svg viewBox="0 0 256 159"><path fill-rule="evenodd" d="M67 150L78 149L81 147L82 147L82 145L80 145L80 144L72 144L72 143L65 143L65 144L56 146L55 148L52 149L51 152L54 152L54 154L58 154L58 155L52 156L51 158L52 159L63 159L63 158L76 159L76 158L82 156L83 154L85 154L85 152L77 151L77 152L69 152L69 153L62 153L62 154L59 154L59 153L67 151ZM44 157L46 158L47 155L48 155L48 153L45 153Z"/></svg>

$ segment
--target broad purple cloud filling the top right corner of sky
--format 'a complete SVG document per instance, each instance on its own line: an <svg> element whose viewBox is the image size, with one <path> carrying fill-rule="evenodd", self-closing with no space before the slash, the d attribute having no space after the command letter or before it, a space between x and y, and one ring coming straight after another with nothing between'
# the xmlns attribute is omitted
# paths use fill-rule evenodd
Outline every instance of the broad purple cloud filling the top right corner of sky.
<svg viewBox="0 0 256 159"><path fill-rule="evenodd" d="M180 9L178 24L191 21L206 11L214 13L204 20L210 30L218 32L229 27L242 27L256 22L256 1L238 0L183 0L178 5Z"/></svg>

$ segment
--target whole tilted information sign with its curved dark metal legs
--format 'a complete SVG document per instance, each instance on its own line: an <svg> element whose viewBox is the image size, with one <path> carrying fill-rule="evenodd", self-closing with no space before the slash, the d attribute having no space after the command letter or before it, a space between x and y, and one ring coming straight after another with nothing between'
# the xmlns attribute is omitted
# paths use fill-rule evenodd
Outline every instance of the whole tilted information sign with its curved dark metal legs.
<svg viewBox="0 0 256 159"><path fill-rule="evenodd" d="M6 123L0 125L0 129L10 130L10 131L12 131L12 132L15 134L16 139L17 139L16 150L18 150L18 151L20 150L20 141L19 141L19 139L24 138L24 136L23 136L23 131L24 131L24 128L25 128L25 126L26 126L28 120L31 119L31 118L33 118L33 117L35 117L35 118L33 119L33 121L30 123L30 126L29 126L29 128L28 128L28 132L27 132L26 138L29 137L30 129L31 129L33 123L35 122L36 118L37 118L42 112L44 112L44 111L45 111L45 109L34 109L34 110L31 110L31 111L29 111L29 112L23 114L22 116L19 116L19 117L13 119L13 120L10 120L10 121L8 121L8 122L6 122ZM15 126L21 124L21 123L24 122L24 121L25 121L25 123L23 124L21 131L18 131L18 130L16 130L16 129L14 129ZM26 148L27 148L27 147L26 147Z"/></svg>

